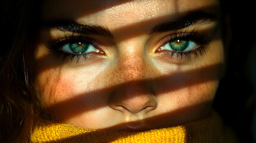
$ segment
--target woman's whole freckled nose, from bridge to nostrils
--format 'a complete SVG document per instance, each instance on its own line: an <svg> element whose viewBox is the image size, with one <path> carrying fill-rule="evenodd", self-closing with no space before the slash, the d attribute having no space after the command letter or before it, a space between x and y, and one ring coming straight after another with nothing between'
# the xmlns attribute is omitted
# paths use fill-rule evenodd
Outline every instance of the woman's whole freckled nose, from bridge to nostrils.
<svg viewBox="0 0 256 143"><path fill-rule="evenodd" d="M110 107L125 113L146 113L158 105L153 82L148 81L156 75L155 67L145 58L144 46L140 44L136 39L119 44L122 50L115 66L116 76L111 79L119 86L112 91Z"/></svg>

